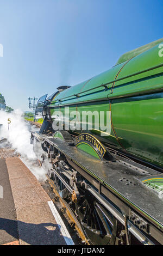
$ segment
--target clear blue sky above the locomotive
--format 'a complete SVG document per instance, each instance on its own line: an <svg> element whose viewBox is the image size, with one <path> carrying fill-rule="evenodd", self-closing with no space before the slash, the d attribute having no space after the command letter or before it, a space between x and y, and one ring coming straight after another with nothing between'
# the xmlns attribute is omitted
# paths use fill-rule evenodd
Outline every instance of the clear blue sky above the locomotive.
<svg viewBox="0 0 163 256"><path fill-rule="evenodd" d="M28 97L110 69L129 50L162 38L162 0L0 0L0 92Z"/></svg>

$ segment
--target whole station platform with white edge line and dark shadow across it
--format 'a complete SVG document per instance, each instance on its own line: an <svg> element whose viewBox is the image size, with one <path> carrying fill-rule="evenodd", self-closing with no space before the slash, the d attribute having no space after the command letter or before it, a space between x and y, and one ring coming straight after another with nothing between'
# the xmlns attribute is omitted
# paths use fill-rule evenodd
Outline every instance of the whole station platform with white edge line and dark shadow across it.
<svg viewBox="0 0 163 256"><path fill-rule="evenodd" d="M0 159L0 245L74 245L51 198L19 157Z"/></svg>

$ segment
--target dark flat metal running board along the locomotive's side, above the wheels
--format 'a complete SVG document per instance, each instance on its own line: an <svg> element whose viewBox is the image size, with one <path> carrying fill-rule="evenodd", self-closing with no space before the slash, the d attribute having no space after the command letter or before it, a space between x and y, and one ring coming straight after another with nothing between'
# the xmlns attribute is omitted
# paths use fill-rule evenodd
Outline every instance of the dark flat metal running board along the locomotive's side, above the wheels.
<svg viewBox="0 0 163 256"><path fill-rule="evenodd" d="M147 175L152 177L152 175L160 174L159 172L143 166L141 169L140 164L137 164L135 168L134 162L133 164L128 163L127 160L124 162L121 157L118 157L116 162L102 162L84 151L73 147L72 143L37 132L32 133L33 137L40 143L47 141L66 156L67 161L71 163L72 167L78 167L79 172L83 170L86 173L85 175L95 178L92 185L98 187L98 183L100 184L99 193L105 194L104 192L107 190L111 199L116 196L114 198L115 202L117 198L121 199L131 209L135 209L146 220L153 223L159 230L163 230L163 200L159 198L155 191L150 190L141 181ZM121 212L125 212L125 206L123 204L121 206L119 206ZM132 213L131 209L129 211ZM150 233L154 232L156 234L159 232L155 227L152 225ZM159 234L156 235L157 238ZM162 241L161 237L159 237L158 241Z"/></svg>

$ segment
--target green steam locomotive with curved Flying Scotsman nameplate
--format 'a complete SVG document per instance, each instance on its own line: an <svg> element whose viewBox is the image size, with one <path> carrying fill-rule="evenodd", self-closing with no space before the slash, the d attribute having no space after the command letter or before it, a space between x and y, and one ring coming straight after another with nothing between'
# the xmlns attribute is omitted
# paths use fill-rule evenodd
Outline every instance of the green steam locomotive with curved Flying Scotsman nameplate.
<svg viewBox="0 0 163 256"><path fill-rule="evenodd" d="M163 244L163 39L57 89L31 143L89 244Z"/></svg>

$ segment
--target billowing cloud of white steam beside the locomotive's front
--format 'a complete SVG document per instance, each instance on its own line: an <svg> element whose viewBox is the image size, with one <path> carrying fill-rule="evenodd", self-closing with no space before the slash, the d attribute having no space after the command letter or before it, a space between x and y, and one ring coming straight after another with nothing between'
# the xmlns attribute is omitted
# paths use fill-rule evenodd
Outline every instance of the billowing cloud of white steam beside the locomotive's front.
<svg viewBox="0 0 163 256"><path fill-rule="evenodd" d="M9 123L9 119L11 121ZM12 149L21 154L21 160L26 164L30 171L38 180L46 179L46 172L41 168L33 151L33 145L30 144L30 131L36 130L35 127L30 127L27 121L24 120L23 112L16 109L11 113L0 111L0 140L7 138ZM9 127L9 129L8 129Z"/></svg>

